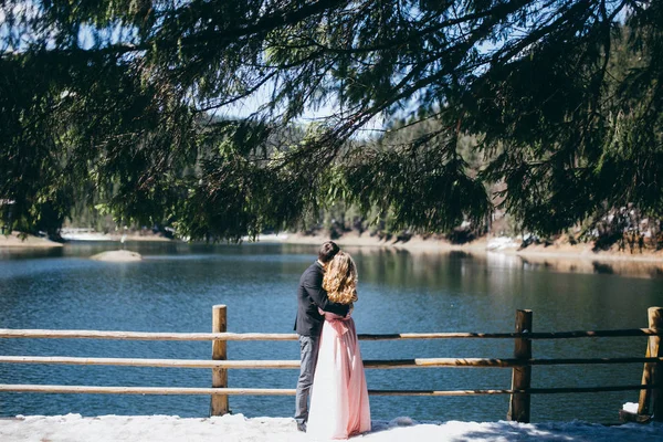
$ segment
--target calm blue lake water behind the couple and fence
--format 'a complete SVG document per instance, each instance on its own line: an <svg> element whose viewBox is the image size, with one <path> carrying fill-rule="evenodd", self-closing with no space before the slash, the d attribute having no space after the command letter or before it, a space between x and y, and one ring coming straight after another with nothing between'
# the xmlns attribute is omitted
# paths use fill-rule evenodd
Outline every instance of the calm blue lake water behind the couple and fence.
<svg viewBox="0 0 663 442"><path fill-rule="evenodd" d="M113 244L0 251L0 328L210 332L212 306L228 305L229 332L292 333L301 273L315 246L134 243L139 263L87 257ZM358 333L512 332L517 308L537 332L646 326L663 305L663 278L561 273L519 259L346 248L359 267ZM535 341L535 357L643 356L644 338ZM513 355L509 340L362 341L365 359ZM0 339L2 355L209 359L211 343ZM229 359L298 359L295 341L229 343ZM641 365L535 367L533 387L636 385ZM230 387L294 388L296 370L230 370ZM367 370L370 389L509 388L508 369ZM211 370L0 364L0 383L209 387ZM543 394L533 421L615 422L636 392ZM0 415L177 414L206 417L209 397L0 393ZM293 397L231 397L233 412L290 417ZM371 397L373 419L504 419L507 396Z"/></svg>

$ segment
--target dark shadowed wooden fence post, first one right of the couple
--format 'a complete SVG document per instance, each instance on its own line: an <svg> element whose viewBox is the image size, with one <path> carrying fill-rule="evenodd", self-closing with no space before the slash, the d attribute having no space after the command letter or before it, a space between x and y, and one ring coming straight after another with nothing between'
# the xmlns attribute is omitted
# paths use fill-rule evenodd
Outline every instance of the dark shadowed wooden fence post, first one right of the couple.
<svg viewBox="0 0 663 442"><path fill-rule="evenodd" d="M532 333L532 311L516 311L516 333ZM515 339L514 357L520 360L532 359L532 340ZM532 366L524 365L513 368L512 390L528 390L532 383ZM506 419L529 423L529 393L511 396Z"/></svg>

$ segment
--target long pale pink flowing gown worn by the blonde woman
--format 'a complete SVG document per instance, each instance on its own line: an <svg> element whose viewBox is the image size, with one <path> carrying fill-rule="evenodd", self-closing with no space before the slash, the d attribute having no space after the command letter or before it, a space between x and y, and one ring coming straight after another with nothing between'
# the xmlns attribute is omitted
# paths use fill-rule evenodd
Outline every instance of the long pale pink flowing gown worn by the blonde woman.
<svg viewBox="0 0 663 442"><path fill-rule="evenodd" d="M370 431L370 407L355 322L325 313L306 433L317 440Z"/></svg>

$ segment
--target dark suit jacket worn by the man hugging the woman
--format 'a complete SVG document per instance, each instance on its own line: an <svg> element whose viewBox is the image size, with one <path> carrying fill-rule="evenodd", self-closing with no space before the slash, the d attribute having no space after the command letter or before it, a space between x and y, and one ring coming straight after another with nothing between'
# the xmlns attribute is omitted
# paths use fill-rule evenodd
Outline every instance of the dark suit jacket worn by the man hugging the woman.
<svg viewBox="0 0 663 442"><path fill-rule="evenodd" d="M297 318L295 332L302 336L319 336L324 317L318 307L325 312L340 316L348 314L349 306L329 301L323 288L324 270L319 262L314 262L304 271L297 290Z"/></svg>

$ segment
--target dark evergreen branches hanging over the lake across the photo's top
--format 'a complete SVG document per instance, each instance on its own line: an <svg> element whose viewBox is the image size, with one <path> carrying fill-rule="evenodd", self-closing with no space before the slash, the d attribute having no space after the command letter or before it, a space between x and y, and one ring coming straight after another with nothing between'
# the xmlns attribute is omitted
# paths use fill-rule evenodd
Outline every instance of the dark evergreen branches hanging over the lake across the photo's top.
<svg viewBox="0 0 663 442"><path fill-rule="evenodd" d="M494 204L541 234L662 215L660 1L25 0L0 19L14 228L55 232L81 200L230 239L339 202L425 232ZM360 136L376 119L389 133Z"/></svg>

